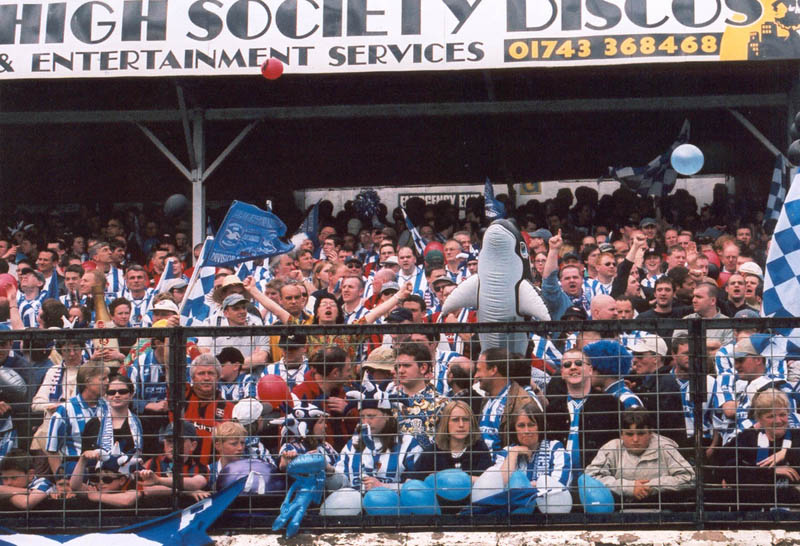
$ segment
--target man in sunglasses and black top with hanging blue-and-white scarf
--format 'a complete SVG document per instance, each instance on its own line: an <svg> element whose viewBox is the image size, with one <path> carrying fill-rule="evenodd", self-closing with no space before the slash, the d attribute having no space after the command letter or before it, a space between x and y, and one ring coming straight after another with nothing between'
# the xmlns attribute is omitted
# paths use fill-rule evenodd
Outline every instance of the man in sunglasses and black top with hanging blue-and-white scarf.
<svg viewBox="0 0 800 546"><path fill-rule="evenodd" d="M593 375L583 351L568 349L561 358L560 376L547 384L547 430L564 442L576 475L617 436L617 415L622 411L614 396L592 392Z"/></svg>

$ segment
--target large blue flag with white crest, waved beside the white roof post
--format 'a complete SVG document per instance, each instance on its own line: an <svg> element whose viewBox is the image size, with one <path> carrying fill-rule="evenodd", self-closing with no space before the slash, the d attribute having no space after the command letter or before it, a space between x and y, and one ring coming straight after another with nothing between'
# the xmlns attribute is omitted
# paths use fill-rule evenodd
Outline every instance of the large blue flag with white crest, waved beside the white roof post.
<svg viewBox="0 0 800 546"><path fill-rule="evenodd" d="M234 201L217 230L207 266L233 266L240 262L285 254L294 248L283 242L286 224L272 212Z"/></svg>

